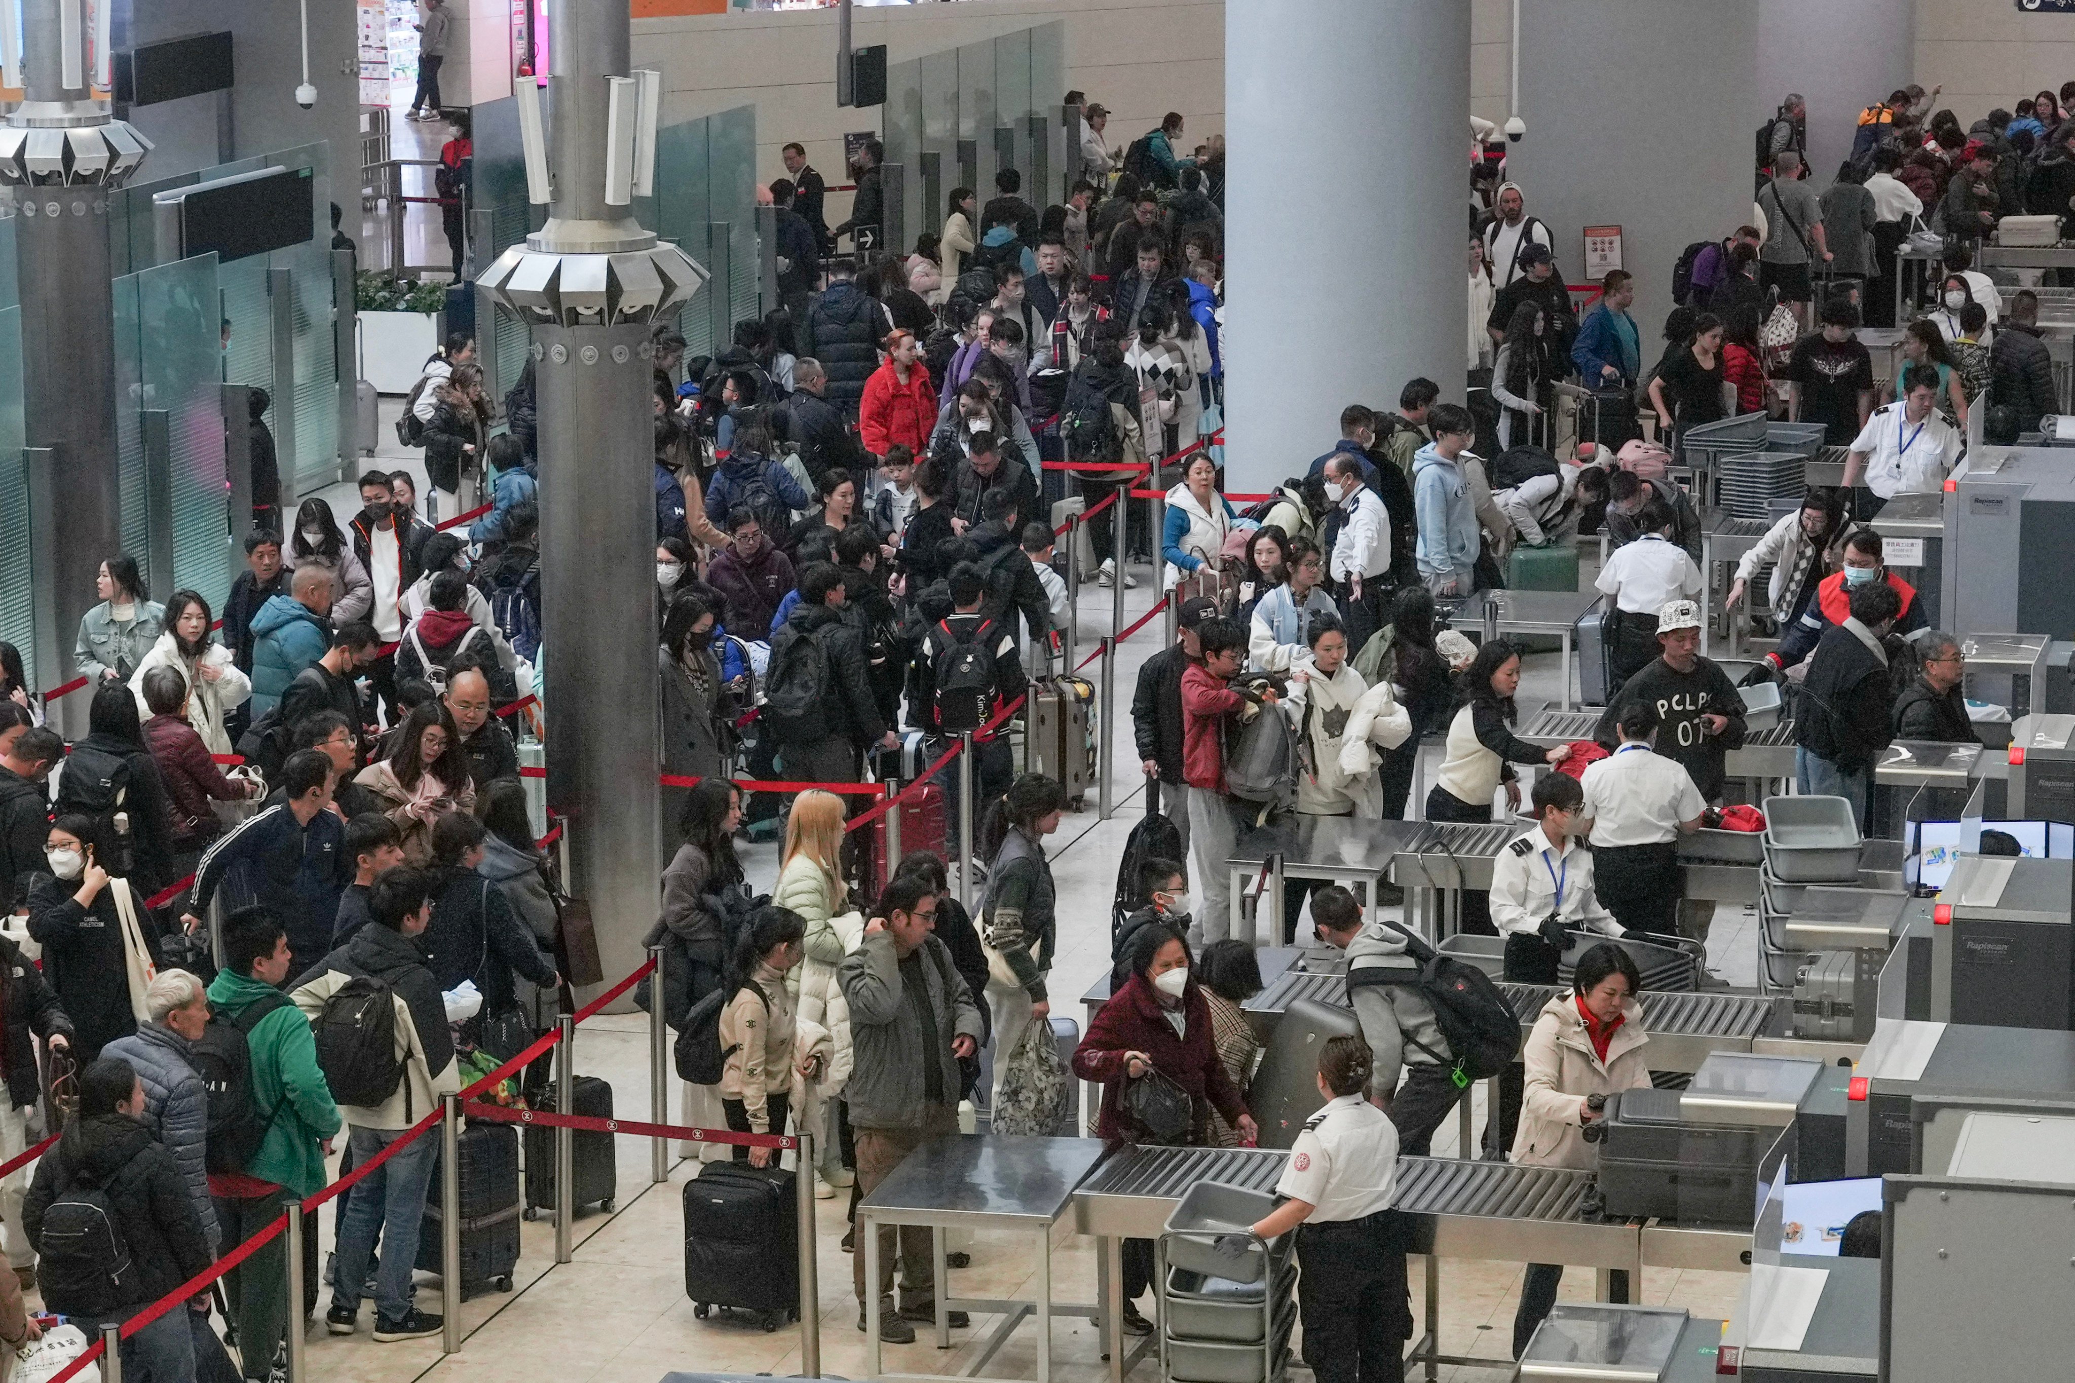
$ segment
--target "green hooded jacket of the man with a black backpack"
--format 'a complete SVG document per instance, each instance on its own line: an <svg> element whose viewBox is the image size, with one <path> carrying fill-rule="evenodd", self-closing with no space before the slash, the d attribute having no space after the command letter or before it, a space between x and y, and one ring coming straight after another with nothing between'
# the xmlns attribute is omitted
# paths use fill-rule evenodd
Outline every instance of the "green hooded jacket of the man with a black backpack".
<svg viewBox="0 0 2075 1383"><path fill-rule="evenodd" d="M253 1004L284 997L274 985L237 970L218 970L210 983L210 1006L230 1022L243 1020ZM253 1101L274 1111L259 1151L245 1163L245 1176L299 1196L315 1194L324 1186L322 1142L342 1124L332 1089L317 1070L317 1039L295 1004L276 1004L251 1024L245 1049L251 1053Z"/></svg>

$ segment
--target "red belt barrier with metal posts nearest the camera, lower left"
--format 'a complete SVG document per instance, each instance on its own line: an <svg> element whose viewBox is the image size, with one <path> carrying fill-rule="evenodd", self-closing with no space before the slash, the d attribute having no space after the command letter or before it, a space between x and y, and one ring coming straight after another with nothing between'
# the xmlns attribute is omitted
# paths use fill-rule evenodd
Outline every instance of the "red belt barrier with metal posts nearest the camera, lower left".
<svg viewBox="0 0 2075 1383"><path fill-rule="evenodd" d="M560 827L556 827L560 829ZM550 834L552 840L554 834ZM548 844L548 842L544 842ZM620 1134L633 1138L647 1138L652 1147L649 1182L662 1184L670 1178L668 1140L685 1138L691 1142L724 1142L735 1147L766 1147L776 1151L797 1153L799 1176L795 1176L795 1186L799 1192L799 1242L793 1246L799 1254L799 1342L801 1342L801 1375L820 1377L822 1375L822 1329L820 1329L820 1277L815 1271L815 1223L813 1223L813 1136L811 1134L739 1134L726 1128L687 1128L679 1124L662 1122L668 1116L668 1089L670 1089L670 1039L662 1014L662 948L652 948L649 958L641 962L622 981L600 993L596 999L579 1008L575 1014L560 1018L554 1031L544 1033L525 1051L504 1062L490 1074L467 1084L465 1089L442 1097L440 1107L413 1124L400 1138L390 1142L382 1153L357 1165L353 1172L340 1176L330 1186L324 1186L311 1196L301 1201L284 1203L282 1213L276 1215L264 1230L247 1238L243 1244L226 1250L216 1263L205 1271L195 1273L178 1288L151 1302L137 1315L120 1323L102 1325L100 1337L93 1339L75 1360L52 1375L50 1383L68 1383L89 1364L100 1362L102 1379L106 1383L122 1383L122 1356L120 1342L133 1337L137 1331L145 1329L168 1310L185 1310L187 1302L210 1290L224 1273L245 1263L245 1259L259 1252L274 1238L286 1238L286 1273L282 1281L282 1296L288 1302L288 1383L303 1383L309 1375L303 1362L303 1215L315 1213L326 1201L338 1198L342 1192L351 1190L361 1180L369 1178L382 1163L400 1153L405 1147L417 1142L419 1138L432 1136L438 1130L440 1136L440 1296L446 1325L440 1339L442 1354L454 1354L461 1350L463 1327L461 1327L461 1122L483 1120L494 1124L523 1124L542 1126L554 1130L554 1261L569 1263L575 1254L575 1132L604 1132ZM571 1097L575 1091L575 1047L577 1028L585 1020L593 1018L608 1004L625 995L639 981L654 977L654 999L649 1004L649 1111L656 1120L598 1120L585 1118L571 1111ZM508 1076L519 1074L531 1062L554 1051L554 1091L556 1109L510 1109L504 1105L481 1103L475 1097L494 1091ZM15 1172L52 1145L58 1142L58 1134L44 1138L27 1153L0 1163L0 1176Z"/></svg>

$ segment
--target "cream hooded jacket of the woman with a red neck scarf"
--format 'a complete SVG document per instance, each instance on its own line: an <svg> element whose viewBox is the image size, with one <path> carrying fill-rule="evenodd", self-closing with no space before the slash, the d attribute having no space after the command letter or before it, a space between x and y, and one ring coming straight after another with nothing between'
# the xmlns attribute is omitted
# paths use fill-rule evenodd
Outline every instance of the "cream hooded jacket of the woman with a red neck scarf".
<svg viewBox="0 0 2075 1383"><path fill-rule="evenodd" d="M1585 1097L1650 1089L1645 1055L1650 1035L1643 1031L1643 1008L1635 999L1625 999L1621 1014L1623 1022L1614 1028L1602 1060L1585 1035L1577 995L1558 993L1542 1008L1521 1047L1527 1089L1521 1128L1513 1136L1513 1161L1577 1172L1594 1172L1600 1165L1598 1145L1585 1142Z"/></svg>

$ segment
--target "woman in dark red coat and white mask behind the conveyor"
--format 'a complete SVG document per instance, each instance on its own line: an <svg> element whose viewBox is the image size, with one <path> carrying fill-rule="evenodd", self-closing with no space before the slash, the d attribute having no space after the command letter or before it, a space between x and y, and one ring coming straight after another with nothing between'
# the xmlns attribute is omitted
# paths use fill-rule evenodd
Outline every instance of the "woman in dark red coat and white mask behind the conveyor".
<svg viewBox="0 0 2075 1383"><path fill-rule="evenodd" d="M1260 1138L1239 1086L1218 1060L1210 1004L1191 983L1189 943L1168 927L1145 927L1131 954L1131 979L1110 995L1087 1024L1087 1037L1073 1053L1073 1074L1102 1084L1096 1136L1110 1145L1164 1142L1204 1147L1210 1140L1210 1111L1216 1109L1239 1130L1243 1145ZM1160 1076L1189 1097L1189 1128L1179 1136L1154 1136L1129 1111L1125 1091L1135 1080ZM1120 1325L1125 1333L1150 1335L1152 1323L1139 1315L1137 1298L1152 1286L1152 1240L1125 1240Z"/></svg>

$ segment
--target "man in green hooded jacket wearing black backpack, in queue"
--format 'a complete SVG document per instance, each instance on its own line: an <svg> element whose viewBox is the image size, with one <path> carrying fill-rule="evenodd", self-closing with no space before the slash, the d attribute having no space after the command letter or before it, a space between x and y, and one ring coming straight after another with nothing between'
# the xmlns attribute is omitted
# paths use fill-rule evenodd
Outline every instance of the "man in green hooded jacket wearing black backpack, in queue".
<svg viewBox="0 0 2075 1383"><path fill-rule="evenodd" d="M210 1194L226 1244L241 1244L280 1215L282 1198L303 1198L324 1186L324 1159L338 1134L338 1105L317 1070L317 1039L280 985L288 979L288 931L272 908L239 908L224 921L224 968L210 985L216 1018L245 1033L251 1091L266 1134L239 1172L210 1163ZM272 1116L272 1118L268 1118ZM303 1244L317 1244L315 1215L303 1221ZM286 1240L274 1238L224 1277L230 1321L239 1327L241 1373L266 1383L286 1339ZM313 1252L309 1254L315 1257ZM303 1281L315 1283L305 1261Z"/></svg>

